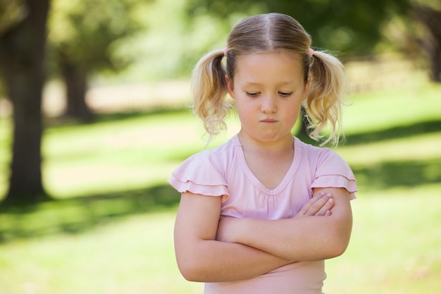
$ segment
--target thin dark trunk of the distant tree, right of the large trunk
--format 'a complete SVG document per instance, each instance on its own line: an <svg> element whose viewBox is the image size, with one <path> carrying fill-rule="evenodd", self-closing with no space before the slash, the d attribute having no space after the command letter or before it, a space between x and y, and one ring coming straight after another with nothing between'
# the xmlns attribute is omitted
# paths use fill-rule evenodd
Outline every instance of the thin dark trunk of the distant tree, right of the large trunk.
<svg viewBox="0 0 441 294"><path fill-rule="evenodd" d="M66 85L67 107L64 116L85 122L93 121L94 115L86 103L86 72L63 53L58 56L58 65Z"/></svg>

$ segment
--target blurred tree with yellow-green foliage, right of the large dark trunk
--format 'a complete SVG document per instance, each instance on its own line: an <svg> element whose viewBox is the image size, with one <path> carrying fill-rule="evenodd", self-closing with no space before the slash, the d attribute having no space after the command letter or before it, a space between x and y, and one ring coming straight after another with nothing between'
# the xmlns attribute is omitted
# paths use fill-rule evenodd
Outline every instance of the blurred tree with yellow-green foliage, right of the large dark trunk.
<svg viewBox="0 0 441 294"><path fill-rule="evenodd" d="M53 0L49 16L49 56L66 85L65 116L93 119L85 94L98 71L120 71L129 59L116 54L125 37L141 26L133 17L140 0ZM145 2L145 1L144 1Z"/></svg>

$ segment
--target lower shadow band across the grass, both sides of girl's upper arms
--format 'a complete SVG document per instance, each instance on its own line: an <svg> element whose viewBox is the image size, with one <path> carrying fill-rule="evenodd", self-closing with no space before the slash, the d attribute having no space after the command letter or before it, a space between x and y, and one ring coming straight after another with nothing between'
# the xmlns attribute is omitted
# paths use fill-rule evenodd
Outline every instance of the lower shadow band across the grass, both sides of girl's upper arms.
<svg viewBox="0 0 441 294"><path fill-rule="evenodd" d="M394 161L353 167L359 190L387 192L391 188L441 183L441 159ZM416 195L417 197L418 195ZM158 185L106 195L91 195L3 209L0 243L58 233L83 233L125 216L175 209L180 194L170 185Z"/></svg>

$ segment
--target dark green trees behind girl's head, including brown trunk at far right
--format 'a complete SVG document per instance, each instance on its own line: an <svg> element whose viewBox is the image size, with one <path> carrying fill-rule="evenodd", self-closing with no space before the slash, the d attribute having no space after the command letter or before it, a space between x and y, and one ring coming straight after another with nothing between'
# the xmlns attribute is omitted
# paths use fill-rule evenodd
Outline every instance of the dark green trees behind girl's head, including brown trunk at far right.
<svg viewBox="0 0 441 294"><path fill-rule="evenodd" d="M211 13L225 18L261 4L261 12L282 12L299 20L313 37L313 47L344 52L340 56L373 54L385 37L385 26L399 19L406 42L395 46L426 59L430 79L441 82L440 0L190 0L190 15Z"/></svg>

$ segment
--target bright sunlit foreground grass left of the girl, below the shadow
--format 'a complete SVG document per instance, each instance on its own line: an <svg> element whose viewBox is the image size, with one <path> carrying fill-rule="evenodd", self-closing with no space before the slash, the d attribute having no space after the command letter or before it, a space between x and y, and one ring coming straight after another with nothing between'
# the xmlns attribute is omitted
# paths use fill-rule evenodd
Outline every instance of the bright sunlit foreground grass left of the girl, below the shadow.
<svg viewBox="0 0 441 294"><path fill-rule="evenodd" d="M186 293L193 286L175 265L172 231L173 213L164 212L81 235L6 243L0 293Z"/></svg>

